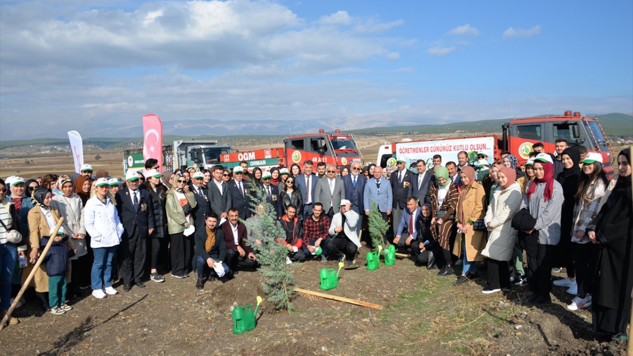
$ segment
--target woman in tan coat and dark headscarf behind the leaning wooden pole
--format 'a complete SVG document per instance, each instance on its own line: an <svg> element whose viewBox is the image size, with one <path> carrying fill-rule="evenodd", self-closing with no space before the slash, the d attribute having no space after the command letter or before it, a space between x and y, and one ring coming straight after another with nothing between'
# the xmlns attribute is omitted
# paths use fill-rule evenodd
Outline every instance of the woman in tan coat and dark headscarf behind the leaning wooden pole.
<svg viewBox="0 0 633 356"><path fill-rule="evenodd" d="M35 207L28 212L29 227L29 249L27 250L28 265L22 272L22 282L27 279L28 274L35 265L35 261L40 257L40 246L44 236L51 236L57 221L60 219L60 212L56 207L51 207L53 201L51 189L38 188L33 192ZM74 249L73 242L68 239L68 248ZM71 282L72 268L68 267L66 281ZM41 264L32 280L35 284L35 294L40 299L43 310L49 310L48 296L48 276L46 274L46 264ZM65 302L65 301L64 301Z"/></svg>

